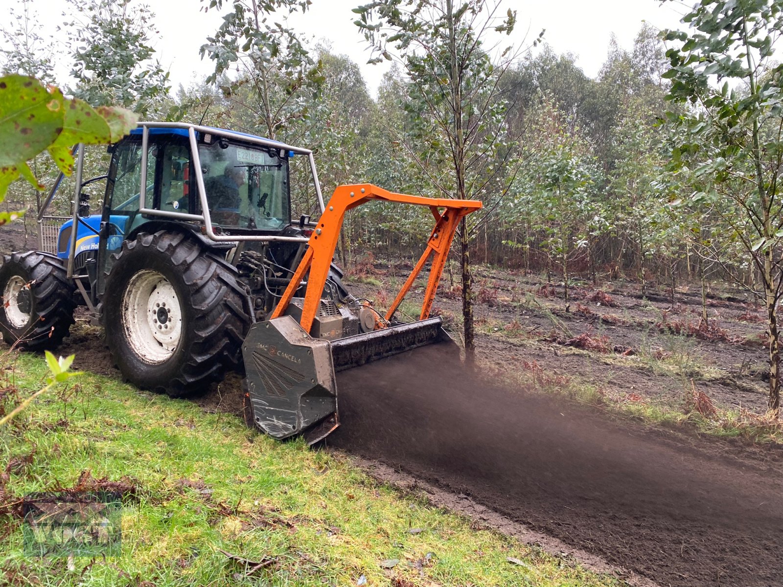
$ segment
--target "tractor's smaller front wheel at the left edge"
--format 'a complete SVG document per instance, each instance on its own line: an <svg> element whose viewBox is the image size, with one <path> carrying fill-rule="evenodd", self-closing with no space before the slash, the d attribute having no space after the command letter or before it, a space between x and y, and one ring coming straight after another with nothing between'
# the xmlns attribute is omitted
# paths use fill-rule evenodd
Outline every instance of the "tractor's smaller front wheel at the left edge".
<svg viewBox="0 0 783 587"><path fill-rule="evenodd" d="M74 283L63 262L37 250L3 257L0 330L6 343L27 351L54 349L74 323Z"/></svg>

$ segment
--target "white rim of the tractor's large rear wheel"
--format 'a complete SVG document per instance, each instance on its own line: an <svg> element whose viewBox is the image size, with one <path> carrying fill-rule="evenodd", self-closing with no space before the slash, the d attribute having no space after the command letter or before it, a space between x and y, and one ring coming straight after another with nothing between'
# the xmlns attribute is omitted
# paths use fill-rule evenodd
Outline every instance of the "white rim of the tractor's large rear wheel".
<svg viewBox="0 0 783 587"><path fill-rule="evenodd" d="M155 271L140 271L122 297L122 326L136 355L158 364L171 358L182 337L182 306L171 283Z"/></svg>

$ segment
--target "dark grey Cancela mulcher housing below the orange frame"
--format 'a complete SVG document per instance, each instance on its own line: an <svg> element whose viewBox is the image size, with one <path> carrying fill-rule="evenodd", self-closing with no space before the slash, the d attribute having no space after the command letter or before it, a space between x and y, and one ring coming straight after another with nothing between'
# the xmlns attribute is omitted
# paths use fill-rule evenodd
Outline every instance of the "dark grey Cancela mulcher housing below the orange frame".
<svg viewBox="0 0 783 587"><path fill-rule="evenodd" d="M242 346L253 420L273 438L303 433L309 444L317 442L340 425L336 371L443 342L458 359L440 318L331 342L310 337L291 316L257 322Z"/></svg>

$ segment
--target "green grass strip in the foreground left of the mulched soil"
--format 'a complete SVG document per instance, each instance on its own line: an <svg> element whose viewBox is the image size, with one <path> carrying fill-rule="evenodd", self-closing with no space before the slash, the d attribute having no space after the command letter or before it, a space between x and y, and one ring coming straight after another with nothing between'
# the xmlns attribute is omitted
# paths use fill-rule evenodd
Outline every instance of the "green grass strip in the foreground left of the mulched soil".
<svg viewBox="0 0 783 587"><path fill-rule="evenodd" d="M21 397L45 365L16 361ZM6 373L12 373L6 371ZM0 583L20 585L618 585L471 520L402 495L344 456L276 442L234 416L85 374L70 396L38 398L0 430L2 502L93 478L137 487L116 558L27 558L18 520L0 515ZM9 402L5 408L8 409ZM5 493L4 493L5 492ZM413 528L420 532L411 532ZM6 532L6 531L9 531ZM251 577L218 552L274 562ZM507 557L521 559L512 564ZM384 560L399 559L391 570ZM149 582L149 583L147 583Z"/></svg>

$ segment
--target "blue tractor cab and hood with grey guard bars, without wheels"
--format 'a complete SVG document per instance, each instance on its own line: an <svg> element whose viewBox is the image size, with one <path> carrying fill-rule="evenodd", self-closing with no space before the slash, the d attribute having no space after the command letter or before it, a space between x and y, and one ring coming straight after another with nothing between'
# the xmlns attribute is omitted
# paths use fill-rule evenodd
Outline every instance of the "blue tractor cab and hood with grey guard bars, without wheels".
<svg viewBox="0 0 783 587"><path fill-rule="evenodd" d="M45 214L57 182L38 218L39 249L66 261L69 278L82 277L92 304L103 294L114 254L139 232L184 230L224 257L238 260L246 250L265 254L272 248L280 262L289 261L310 232L309 216L291 223L289 163L295 155L309 157L323 203L309 149L255 135L143 123L109 150L108 173L90 179L82 178L85 153L79 153L73 217ZM102 179L103 205L96 210L92 203L91 211L83 188Z"/></svg>

